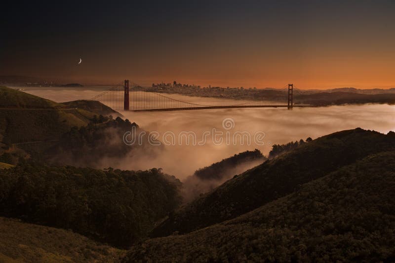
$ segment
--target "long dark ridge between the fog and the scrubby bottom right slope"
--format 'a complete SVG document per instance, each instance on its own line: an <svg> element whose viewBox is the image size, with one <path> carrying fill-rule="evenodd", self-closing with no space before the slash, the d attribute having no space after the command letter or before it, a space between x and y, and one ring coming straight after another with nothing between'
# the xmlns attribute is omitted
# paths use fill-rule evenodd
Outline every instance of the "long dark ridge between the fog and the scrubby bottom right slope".
<svg viewBox="0 0 395 263"><path fill-rule="evenodd" d="M215 188L164 221L153 236L186 233L235 218L367 155L394 149L393 132L357 128L323 136Z"/></svg>

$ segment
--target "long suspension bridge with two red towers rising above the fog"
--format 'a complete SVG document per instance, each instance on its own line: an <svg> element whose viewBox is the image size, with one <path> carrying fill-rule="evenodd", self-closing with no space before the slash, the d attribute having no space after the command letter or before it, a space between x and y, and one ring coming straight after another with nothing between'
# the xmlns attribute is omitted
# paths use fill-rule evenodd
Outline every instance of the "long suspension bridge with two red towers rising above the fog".
<svg viewBox="0 0 395 263"><path fill-rule="evenodd" d="M288 84L276 90L268 97L251 101L244 101L227 105L206 105L186 102L171 98L170 94L159 93L155 87L135 85L129 87L129 80L125 80L110 89L96 95L90 100L99 101L114 110L134 112L161 112L161 111L187 111L205 109L235 109L235 108L287 108L314 107L312 105L293 104L293 84Z"/></svg>

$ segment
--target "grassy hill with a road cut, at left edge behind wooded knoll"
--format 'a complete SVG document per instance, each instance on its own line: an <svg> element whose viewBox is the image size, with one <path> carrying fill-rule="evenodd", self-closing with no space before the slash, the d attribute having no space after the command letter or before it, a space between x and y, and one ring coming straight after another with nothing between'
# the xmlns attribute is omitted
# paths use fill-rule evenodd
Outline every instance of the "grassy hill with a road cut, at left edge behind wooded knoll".
<svg viewBox="0 0 395 263"><path fill-rule="evenodd" d="M102 113L115 112L99 102L56 103L0 87L0 134L6 144L58 139Z"/></svg>

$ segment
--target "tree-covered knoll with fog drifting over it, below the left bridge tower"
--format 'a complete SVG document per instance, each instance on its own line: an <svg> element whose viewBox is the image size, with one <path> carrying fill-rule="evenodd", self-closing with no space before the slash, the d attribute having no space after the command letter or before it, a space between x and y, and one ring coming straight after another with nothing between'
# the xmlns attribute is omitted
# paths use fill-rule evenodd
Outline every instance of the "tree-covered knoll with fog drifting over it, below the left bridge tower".
<svg viewBox="0 0 395 263"><path fill-rule="evenodd" d="M136 131L135 135L141 131L136 123L130 123L128 119L95 116L92 123L87 126L73 127L63 134L60 140L46 151L44 159L57 165L103 168L108 166L104 163L111 163L117 167L125 161L126 156L155 156L163 150L163 146L152 146L148 138L143 138L141 145L126 145L123 135L133 129Z"/></svg>

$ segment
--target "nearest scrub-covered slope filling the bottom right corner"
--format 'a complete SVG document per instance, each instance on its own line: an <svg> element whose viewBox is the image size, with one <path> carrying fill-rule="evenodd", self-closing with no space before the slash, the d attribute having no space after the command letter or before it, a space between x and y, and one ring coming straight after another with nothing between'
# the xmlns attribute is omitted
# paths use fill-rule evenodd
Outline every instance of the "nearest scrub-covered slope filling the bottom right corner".
<svg viewBox="0 0 395 263"><path fill-rule="evenodd" d="M373 154L236 219L149 239L123 262L394 262L394 200L395 152Z"/></svg>

